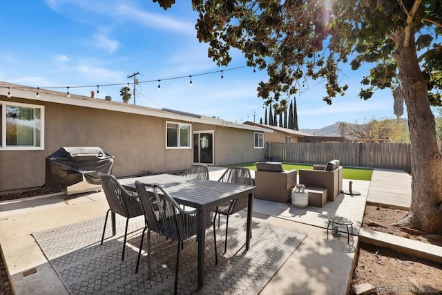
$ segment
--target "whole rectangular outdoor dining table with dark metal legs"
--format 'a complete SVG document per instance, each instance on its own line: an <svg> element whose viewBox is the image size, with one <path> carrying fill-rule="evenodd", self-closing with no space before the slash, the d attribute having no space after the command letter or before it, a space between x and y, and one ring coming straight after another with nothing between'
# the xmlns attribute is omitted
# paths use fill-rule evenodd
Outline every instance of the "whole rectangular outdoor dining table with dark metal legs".
<svg viewBox="0 0 442 295"><path fill-rule="evenodd" d="M198 288L204 285L204 249L206 240L206 214L214 211L218 204L234 200L242 196L248 196L247 207L247 230L246 250L250 246L251 218L253 213L253 191L255 186L247 184L233 184L229 182L218 182L213 180L200 180L195 178L182 177L172 174L158 174L142 176L137 178L120 179L119 182L128 191L136 191L135 181L150 184L162 184L171 197L178 204L193 207L198 210ZM113 234L115 234L115 216L113 220Z"/></svg>

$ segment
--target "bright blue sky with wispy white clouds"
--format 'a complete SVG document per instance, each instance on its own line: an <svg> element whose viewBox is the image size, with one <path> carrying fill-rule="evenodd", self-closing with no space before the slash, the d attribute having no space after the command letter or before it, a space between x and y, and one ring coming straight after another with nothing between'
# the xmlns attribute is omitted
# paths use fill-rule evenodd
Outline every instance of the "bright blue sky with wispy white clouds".
<svg viewBox="0 0 442 295"><path fill-rule="evenodd" d="M266 81L265 73L240 68L246 63L239 51L233 51L228 67L218 68L207 57L206 44L196 38L198 15L190 1L177 2L164 11L151 0L2 1L0 81L40 88L70 86L70 93L88 96L100 85L96 97L110 95L122 101L119 89L125 85L104 85L129 82L132 89L128 75L139 72L136 104L233 122L253 121L253 115L256 122L264 120L264 101L256 87ZM300 129L394 117L390 90L377 91L368 101L358 98L363 75L367 72L345 71L340 79L349 89L332 106L322 100L323 84L306 85L296 95ZM175 77L184 78L171 79Z"/></svg>

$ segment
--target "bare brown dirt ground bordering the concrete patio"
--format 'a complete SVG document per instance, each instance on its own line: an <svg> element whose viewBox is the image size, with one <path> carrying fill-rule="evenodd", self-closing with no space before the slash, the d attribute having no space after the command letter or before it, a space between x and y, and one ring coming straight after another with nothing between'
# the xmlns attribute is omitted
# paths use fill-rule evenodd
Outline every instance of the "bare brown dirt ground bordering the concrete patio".
<svg viewBox="0 0 442 295"><path fill-rule="evenodd" d="M54 192L39 189L20 194L0 195L0 201ZM407 211L403 210L367 205L363 227L442 247L440 235L425 235L419 231L400 229L391 225L392 222L401 220L406 213ZM372 294L442 294L442 265L390 249L361 244L351 294L354 294L355 285L363 283L369 283L376 288ZM12 295L2 259L0 260L0 295Z"/></svg>

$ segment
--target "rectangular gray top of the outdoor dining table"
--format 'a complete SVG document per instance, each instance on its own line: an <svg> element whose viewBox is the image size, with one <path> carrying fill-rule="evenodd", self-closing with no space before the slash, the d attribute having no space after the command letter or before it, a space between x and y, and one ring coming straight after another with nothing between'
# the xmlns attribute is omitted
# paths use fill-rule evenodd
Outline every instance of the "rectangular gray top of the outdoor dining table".
<svg viewBox="0 0 442 295"><path fill-rule="evenodd" d="M157 174L124 178L119 182L128 191L136 191L135 181L149 184L160 184L179 204L195 209L209 209L216 205L238 198L238 195L248 195L256 187L248 184L200 180L173 174Z"/></svg>

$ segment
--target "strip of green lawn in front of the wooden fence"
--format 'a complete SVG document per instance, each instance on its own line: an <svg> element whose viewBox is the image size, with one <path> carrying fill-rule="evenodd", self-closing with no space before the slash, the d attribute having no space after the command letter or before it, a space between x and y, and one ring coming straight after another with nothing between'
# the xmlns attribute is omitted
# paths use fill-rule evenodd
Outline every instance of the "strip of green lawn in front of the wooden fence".
<svg viewBox="0 0 442 295"><path fill-rule="evenodd" d="M227 166L245 167L250 170L256 170L256 162L232 164ZM294 164L294 163L282 163L284 170L312 170L313 165L309 164ZM369 168L354 168L354 167L343 167L343 178L351 180L372 180L373 169Z"/></svg>

